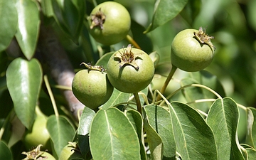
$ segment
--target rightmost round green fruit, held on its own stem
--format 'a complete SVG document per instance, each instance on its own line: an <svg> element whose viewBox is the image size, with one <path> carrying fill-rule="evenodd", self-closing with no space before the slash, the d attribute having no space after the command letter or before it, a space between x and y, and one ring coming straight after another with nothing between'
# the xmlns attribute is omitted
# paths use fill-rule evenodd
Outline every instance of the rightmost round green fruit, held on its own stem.
<svg viewBox="0 0 256 160"><path fill-rule="evenodd" d="M206 43L198 41L195 33L200 32ZM210 43L211 36L207 36L202 28L186 29L179 32L171 44L171 63L172 65L188 72L203 70L213 60L214 46Z"/></svg>

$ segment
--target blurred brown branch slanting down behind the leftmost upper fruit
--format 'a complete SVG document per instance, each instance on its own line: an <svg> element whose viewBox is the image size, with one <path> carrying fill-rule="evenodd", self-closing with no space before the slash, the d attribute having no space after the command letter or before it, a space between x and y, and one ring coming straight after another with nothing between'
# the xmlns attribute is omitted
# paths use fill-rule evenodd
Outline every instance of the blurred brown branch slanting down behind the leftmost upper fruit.
<svg viewBox="0 0 256 160"><path fill-rule="evenodd" d="M55 36L53 28L41 25L38 49L43 63L46 64L55 82L58 85L71 87L75 75L73 66L68 60L68 55L60 45L58 38ZM70 112L78 120L78 111L83 109L84 105L78 101L71 90L63 90L63 95L68 102ZM82 110L80 111L82 112Z"/></svg>

